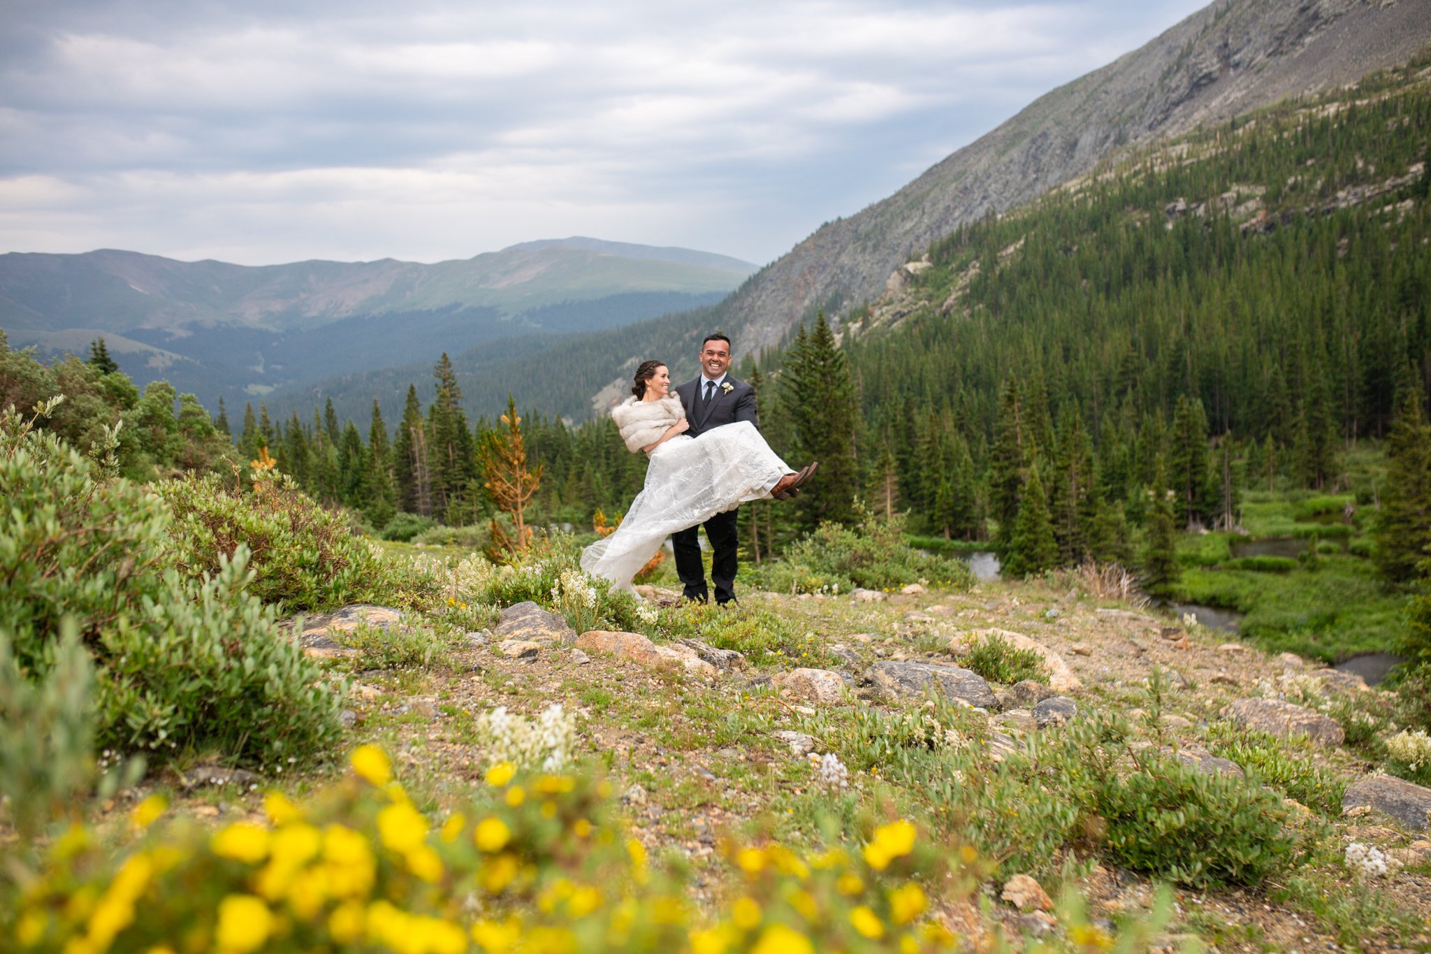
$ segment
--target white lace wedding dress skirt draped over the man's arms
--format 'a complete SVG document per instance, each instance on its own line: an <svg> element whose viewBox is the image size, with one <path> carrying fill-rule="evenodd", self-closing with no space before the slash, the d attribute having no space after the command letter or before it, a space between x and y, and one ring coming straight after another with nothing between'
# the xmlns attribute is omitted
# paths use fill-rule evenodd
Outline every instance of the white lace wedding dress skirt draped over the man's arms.
<svg viewBox="0 0 1431 954"><path fill-rule="evenodd" d="M748 421L698 438L677 435L651 452L645 488L631 501L621 525L582 551L581 569L610 579L615 589L631 589L631 578L667 536L747 501L768 499L787 473L794 471Z"/></svg>

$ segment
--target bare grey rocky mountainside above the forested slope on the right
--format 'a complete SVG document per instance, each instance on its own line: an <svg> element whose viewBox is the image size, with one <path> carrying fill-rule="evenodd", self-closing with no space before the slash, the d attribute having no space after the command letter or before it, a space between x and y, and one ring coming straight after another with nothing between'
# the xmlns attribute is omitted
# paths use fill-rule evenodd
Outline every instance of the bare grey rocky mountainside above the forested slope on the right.
<svg viewBox="0 0 1431 954"><path fill-rule="evenodd" d="M823 308L877 297L892 270L1105 156L1281 97L1351 83L1431 43L1431 0L1219 0L1032 103L859 215L823 226L724 306L737 348L778 343Z"/></svg>

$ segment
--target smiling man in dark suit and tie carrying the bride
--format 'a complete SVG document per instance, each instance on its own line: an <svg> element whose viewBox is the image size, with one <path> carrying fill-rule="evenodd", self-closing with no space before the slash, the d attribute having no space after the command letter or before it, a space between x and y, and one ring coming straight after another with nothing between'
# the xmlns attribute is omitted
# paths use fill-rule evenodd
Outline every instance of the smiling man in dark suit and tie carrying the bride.
<svg viewBox="0 0 1431 954"><path fill-rule="evenodd" d="M675 388L685 408L685 419L693 438L707 431L748 421L756 421L756 389L743 380L736 380L730 369L730 339L724 335L707 335L701 342L701 373L694 380ZM671 533L675 549L675 572L684 584L685 599L705 602L705 569L701 566L701 546L697 526ZM736 511L726 511L705 521L705 539L711 544L711 582L716 584L716 604L724 606L736 599L736 551L740 536L736 531Z"/></svg>

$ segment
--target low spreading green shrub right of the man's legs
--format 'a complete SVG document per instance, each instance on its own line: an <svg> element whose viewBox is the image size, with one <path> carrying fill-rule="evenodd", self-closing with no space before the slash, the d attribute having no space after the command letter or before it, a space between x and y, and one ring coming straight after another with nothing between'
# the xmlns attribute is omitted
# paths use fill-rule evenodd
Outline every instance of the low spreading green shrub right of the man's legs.
<svg viewBox="0 0 1431 954"><path fill-rule="evenodd" d="M876 516L860 508L859 523L821 523L791 546L784 559L768 564L760 576L776 592L890 589L922 579L936 586L969 589L973 575L962 559L930 556L906 542L904 518Z"/></svg>

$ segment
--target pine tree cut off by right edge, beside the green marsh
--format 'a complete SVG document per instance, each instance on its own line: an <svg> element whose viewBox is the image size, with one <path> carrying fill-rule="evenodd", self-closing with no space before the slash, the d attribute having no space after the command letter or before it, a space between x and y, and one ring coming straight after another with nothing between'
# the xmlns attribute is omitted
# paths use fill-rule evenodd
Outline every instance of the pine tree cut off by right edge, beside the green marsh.
<svg viewBox="0 0 1431 954"><path fill-rule="evenodd" d="M1387 439L1387 483L1377 518L1377 569L1392 584L1410 584L1421 572L1431 545L1431 426L1421 398L1407 392Z"/></svg>

